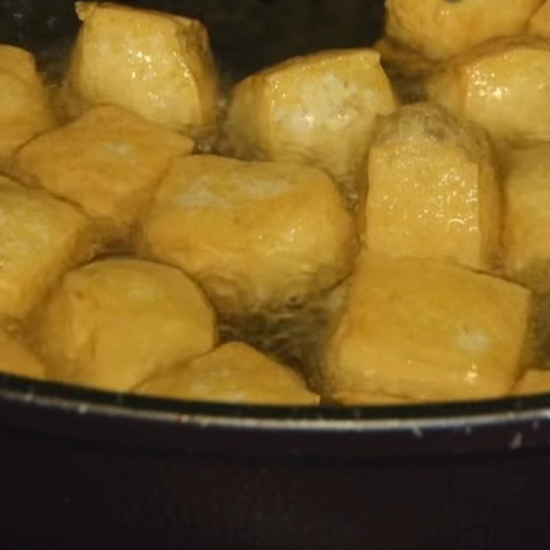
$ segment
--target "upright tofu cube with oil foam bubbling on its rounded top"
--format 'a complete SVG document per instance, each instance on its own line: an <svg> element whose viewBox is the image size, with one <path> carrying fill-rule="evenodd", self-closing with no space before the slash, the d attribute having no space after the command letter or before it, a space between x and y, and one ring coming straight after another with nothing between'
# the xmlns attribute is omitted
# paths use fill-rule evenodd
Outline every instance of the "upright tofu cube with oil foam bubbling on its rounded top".
<svg viewBox="0 0 550 550"><path fill-rule="evenodd" d="M375 137L368 179L366 248L492 267L500 189L483 132L432 104L402 107Z"/></svg>

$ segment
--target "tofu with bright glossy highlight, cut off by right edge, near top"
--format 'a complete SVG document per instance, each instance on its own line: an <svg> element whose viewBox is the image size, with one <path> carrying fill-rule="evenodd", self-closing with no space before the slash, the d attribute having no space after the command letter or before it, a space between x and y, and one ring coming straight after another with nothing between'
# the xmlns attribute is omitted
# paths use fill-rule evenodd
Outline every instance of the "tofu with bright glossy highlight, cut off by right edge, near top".
<svg viewBox="0 0 550 550"><path fill-rule="evenodd" d="M550 140L550 44L499 39L445 65L426 83L428 97L483 126L497 145Z"/></svg>

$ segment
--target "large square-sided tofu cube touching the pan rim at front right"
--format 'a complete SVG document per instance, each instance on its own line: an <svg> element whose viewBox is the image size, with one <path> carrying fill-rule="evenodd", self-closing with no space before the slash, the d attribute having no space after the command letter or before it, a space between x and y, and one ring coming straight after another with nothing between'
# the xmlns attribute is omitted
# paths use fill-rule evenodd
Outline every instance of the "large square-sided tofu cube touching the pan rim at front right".
<svg viewBox="0 0 550 550"><path fill-rule="evenodd" d="M531 293L424 259L360 258L325 347L328 395L415 401L506 395L529 341Z"/></svg>

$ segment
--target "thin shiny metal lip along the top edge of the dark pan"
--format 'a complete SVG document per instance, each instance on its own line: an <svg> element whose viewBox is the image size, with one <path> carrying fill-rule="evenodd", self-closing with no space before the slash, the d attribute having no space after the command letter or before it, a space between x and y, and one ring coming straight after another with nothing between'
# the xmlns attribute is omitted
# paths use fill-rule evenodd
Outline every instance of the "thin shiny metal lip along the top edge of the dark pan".
<svg viewBox="0 0 550 550"><path fill-rule="evenodd" d="M115 393L6 373L0 373L0 400L61 408L80 414L96 411L109 415L219 426L245 427L250 423L254 426L261 423L265 428L288 427L290 423L297 429L345 427L375 430L404 426L407 423L438 427L531 417L550 420L550 393L430 404L263 406Z"/></svg>

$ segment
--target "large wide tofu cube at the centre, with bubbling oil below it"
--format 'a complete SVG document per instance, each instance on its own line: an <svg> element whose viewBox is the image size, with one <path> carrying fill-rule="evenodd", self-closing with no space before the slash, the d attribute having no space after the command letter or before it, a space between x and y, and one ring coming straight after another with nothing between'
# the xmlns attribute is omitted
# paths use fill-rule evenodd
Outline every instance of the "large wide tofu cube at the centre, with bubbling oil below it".
<svg viewBox="0 0 550 550"><path fill-rule="evenodd" d="M195 278L219 309L299 303L351 272L353 219L317 168L196 155L173 162L138 248Z"/></svg>

